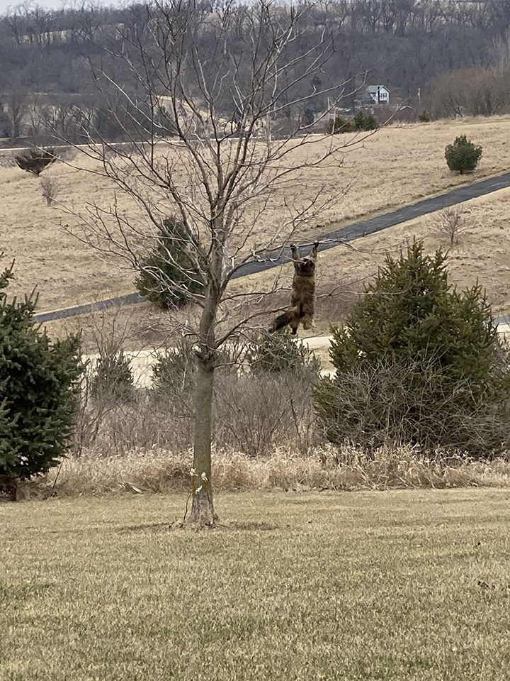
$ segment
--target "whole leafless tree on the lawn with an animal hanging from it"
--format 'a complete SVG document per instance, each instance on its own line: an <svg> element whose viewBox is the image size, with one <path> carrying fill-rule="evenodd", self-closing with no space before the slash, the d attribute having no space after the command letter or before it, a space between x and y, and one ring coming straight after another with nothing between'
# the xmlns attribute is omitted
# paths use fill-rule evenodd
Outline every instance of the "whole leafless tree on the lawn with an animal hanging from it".
<svg viewBox="0 0 510 681"><path fill-rule="evenodd" d="M94 115L82 120L86 153L99 161L94 172L113 180L138 210L128 214L117 202L90 206L77 236L127 258L137 270L147 245L175 216L180 231L174 240L181 241L188 263L181 279L200 284L199 293L186 292L196 319L191 309L182 326L198 356L191 520L200 524L216 518L211 433L218 350L268 313L260 304L267 290L239 289L232 279L248 263L286 255L286 244L311 236L310 221L329 206L331 192L310 170L338 166L355 143L312 134L303 116L317 98L329 96L334 107L350 94L348 83L316 85L321 81L314 76L339 55L331 33L300 47L311 7L272 0L247 6L227 1L212 10L195 0L153 4L150 40L142 44L136 33L127 33L122 50L109 55L128 67L123 72L129 78L120 82L94 69L113 123L129 145L115 147L101 138ZM183 269L172 253L169 262ZM165 289L182 293L182 283L164 272L151 274ZM270 292L277 289L275 283ZM278 309L281 302L271 313Z"/></svg>

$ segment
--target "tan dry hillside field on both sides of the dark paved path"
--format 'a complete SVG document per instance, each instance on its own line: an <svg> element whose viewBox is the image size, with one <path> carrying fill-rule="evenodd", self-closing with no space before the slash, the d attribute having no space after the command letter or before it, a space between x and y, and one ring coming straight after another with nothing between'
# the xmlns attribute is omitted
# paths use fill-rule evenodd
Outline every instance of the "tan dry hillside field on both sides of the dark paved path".
<svg viewBox="0 0 510 681"><path fill-rule="evenodd" d="M312 170L302 177L310 196L322 188L323 198L337 196L339 199L317 220L324 227L317 229L314 221L308 235L504 172L509 167L509 132L509 116L427 123L385 128L350 148L348 153L340 150L335 166L329 164L322 171ZM469 176L450 173L443 158L445 145L463 133L484 147L480 167ZM338 143L348 137L339 136ZM94 167L91 161L78 155L72 163L81 164L82 169L59 163L46 171L59 187L58 203L52 206L47 206L42 198L38 179L18 168L0 168L0 252L6 254L4 262L16 258L16 281L11 292L21 294L37 287L41 311L133 290L134 277L125 263L99 255L62 227L62 224L77 223L69 211L83 214L88 201L108 206L114 199L113 185L83 170ZM301 201L307 200L307 196L302 195L302 187L299 194ZM504 277L509 264L503 229L505 196L508 199L508 194L499 192L497 197L480 199L478 207L472 209L476 226L463 234L458 247L452 251L453 279L463 283L463 272L472 279L480 270L480 281L487 285L497 310L506 306ZM118 201L121 209L133 210L125 197L119 195ZM278 221L276 211L271 220ZM415 228L421 233L427 232L425 218L416 222L419 224L393 228L384 235L356 242L359 253L352 249L345 253L341 249L340 253L330 251L323 256L324 261L335 266L338 263L340 272L336 277L336 272L328 268L329 279L339 283L341 289L352 289L353 282L361 281L373 271L385 248L394 248L405 238L411 238ZM268 223L264 223L263 228L267 230ZM434 243L430 239L431 247ZM331 314L334 316L334 313L328 314L329 319Z"/></svg>

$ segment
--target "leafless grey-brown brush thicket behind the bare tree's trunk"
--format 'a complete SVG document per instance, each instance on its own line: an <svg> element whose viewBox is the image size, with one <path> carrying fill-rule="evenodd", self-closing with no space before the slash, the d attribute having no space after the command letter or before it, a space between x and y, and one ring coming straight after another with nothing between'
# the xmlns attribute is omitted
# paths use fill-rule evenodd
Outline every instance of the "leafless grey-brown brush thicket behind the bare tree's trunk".
<svg viewBox="0 0 510 681"><path fill-rule="evenodd" d="M137 390L128 402L91 399L85 389L74 453L123 456L152 448L180 453L193 442L194 378L162 392ZM85 387L86 388L86 387ZM307 455L319 443L309 382L294 375L238 375L218 370L213 404L217 449L251 457L277 448Z"/></svg>

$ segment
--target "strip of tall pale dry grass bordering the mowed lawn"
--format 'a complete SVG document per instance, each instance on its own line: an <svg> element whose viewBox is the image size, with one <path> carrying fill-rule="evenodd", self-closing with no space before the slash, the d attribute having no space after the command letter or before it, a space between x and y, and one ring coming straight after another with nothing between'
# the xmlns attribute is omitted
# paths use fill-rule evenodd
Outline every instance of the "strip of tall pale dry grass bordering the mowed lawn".
<svg viewBox="0 0 510 681"><path fill-rule="evenodd" d="M91 450L80 458L64 460L42 479L23 485L21 497L188 489L192 460L190 452L157 448L113 457ZM279 449L263 458L224 450L214 453L213 466L215 489L221 492L510 486L508 458L475 461L438 452L428 459L411 447L379 448L370 456L352 446L325 446L307 456Z"/></svg>

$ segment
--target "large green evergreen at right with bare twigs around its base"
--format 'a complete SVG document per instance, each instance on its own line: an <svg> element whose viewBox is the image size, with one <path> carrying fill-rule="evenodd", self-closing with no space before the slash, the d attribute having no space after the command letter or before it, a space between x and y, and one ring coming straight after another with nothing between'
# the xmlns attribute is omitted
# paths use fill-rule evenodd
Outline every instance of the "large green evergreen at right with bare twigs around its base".
<svg viewBox="0 0 510 681"><path fill-rule="evenodd" d="M375 282L334 329L334 380L315 390L330 441L412 443L483 456L509 443L510 372L487 299L448 284L446 256L387 256Z"/></svg>

